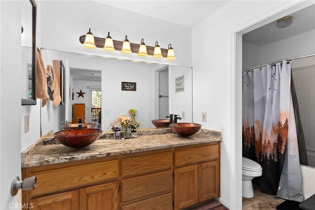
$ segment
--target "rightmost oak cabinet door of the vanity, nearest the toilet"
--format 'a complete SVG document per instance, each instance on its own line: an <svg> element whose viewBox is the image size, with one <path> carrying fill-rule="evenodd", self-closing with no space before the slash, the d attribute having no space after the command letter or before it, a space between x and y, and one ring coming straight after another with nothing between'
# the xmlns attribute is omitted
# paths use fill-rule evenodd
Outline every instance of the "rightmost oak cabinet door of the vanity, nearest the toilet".
<svg viewBox="0 0 315 210"><path fill-rule="evenodd" d="M198 165L198 202L219 197L219 161L211 161Z"/></svg>

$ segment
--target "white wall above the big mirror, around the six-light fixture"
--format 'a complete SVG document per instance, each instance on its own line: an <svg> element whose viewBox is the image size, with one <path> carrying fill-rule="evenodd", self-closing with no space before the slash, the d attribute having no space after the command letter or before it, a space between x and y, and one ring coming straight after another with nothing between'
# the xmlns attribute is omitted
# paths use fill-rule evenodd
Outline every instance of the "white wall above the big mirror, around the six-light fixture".
<svg viewBox="0 0 315 210"><path fill-rule="evenodd" d="M41 6L41 47L84 54L107 55L114 58L137 60L152 58L151 56L140 58L136 54L124 55L118 51L107 52L100 48L86 49L79 42L79 37L85 35L91 28L91 32L96 37L105 38L107 32L110 31L114 40L123 41L127 35L130 43L140 44L140 40L143 38L148 46L154 46L158 40L159 46L164 49L167 49L168 44L171 43L177 57L176 60L167 61L165 58L153 60L191 66L191 28L189 27L91 0L42 1ZM81 32L74 34L77 29L80 29Z"/></svg>

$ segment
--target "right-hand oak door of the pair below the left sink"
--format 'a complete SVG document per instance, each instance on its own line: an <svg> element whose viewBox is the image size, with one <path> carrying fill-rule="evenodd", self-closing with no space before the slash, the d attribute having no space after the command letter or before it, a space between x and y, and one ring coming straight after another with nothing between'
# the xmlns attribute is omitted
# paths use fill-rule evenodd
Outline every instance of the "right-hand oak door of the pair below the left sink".
<svg viewBox="0 0 315 210"><path fill-rule="evenodd" d="M118 181L80 189L80 210L118 210Z"/></svg>

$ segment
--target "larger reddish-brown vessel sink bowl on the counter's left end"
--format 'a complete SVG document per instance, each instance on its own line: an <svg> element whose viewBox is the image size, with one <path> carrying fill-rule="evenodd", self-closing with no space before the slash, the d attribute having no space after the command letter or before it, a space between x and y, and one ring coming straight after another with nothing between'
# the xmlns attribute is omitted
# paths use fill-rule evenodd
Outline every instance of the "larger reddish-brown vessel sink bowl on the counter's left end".
<svg viewBox="0 0 315 210"><path fill-rule="evenodd" d="M101 129L71 129L54 133L58 142L70 148L84 148L93 144L102 134Z"/></svg>

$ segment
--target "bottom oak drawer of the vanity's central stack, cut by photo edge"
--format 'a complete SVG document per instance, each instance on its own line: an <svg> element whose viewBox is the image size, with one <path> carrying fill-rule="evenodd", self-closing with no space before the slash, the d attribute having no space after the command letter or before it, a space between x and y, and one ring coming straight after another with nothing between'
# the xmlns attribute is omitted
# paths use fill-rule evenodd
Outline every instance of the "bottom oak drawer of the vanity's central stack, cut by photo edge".
<svg viewBox="0 0 315 210"><path fill-rule="evenodd" d="M122 210L172 210L172 193L167 193L122 207Z"/></svg>

